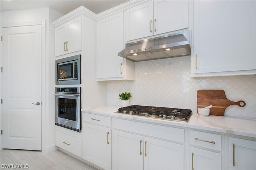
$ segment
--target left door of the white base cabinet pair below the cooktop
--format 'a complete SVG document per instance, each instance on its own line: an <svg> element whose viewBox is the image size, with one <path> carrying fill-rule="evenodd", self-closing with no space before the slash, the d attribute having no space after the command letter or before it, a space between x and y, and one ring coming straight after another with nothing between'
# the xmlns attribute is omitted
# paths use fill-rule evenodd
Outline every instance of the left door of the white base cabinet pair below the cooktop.
<svg viewBox="0 0 256 170"><path fill-rule="evenodd" d="M143 136L114 130L114 169L143 170Z"/></svg>

